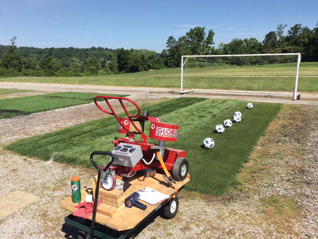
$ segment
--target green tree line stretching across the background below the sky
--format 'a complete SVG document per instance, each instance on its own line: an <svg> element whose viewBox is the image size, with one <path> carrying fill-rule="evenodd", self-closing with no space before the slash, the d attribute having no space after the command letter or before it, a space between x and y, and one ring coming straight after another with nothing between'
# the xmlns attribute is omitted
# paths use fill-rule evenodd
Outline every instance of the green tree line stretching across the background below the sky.
<svg viewBox="0 0 318 239"><path fill-rule="evenodd" d="M17 47L17 37L10 46L0 45L0 76L87 76L133 73L151 69L180 67L181 55L228 55L301 53L301 60L318 61L318 22L314 29L296 24L280 24L276 31L265 35L262 42L256 38L233 39L230 43L213 46L213 30L191 28L176 40L169 36L166 49L155 51L102 47L91 48L35 48Z"/></svg>

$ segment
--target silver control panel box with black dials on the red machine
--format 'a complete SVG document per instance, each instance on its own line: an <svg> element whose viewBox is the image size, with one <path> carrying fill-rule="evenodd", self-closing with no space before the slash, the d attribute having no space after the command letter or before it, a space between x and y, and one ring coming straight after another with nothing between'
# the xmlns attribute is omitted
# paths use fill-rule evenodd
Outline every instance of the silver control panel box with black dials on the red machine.
<svg viewBox="0 0 318 239"><path fill-rule="evenodd" d="M120 143L112 151L114 164L134 167L143 157L140 145Z"/></svg>

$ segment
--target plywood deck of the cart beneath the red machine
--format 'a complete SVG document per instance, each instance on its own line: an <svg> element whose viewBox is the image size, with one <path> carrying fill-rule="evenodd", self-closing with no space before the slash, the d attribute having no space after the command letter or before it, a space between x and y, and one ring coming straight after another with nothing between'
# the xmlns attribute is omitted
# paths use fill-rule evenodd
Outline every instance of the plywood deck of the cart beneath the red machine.
<svg viewBox="0 0 318 239"><path fill-rule="evenodd" d="M187 182L190 181L190 175L188 174L187 177L183 181L176 181L176 188L179 190L181 187L183 187ZM127 198L130 194L133 192L137 192L145 187L150 187L156 191L162 192L164 194L172 196L175 193L175 189L173 186L169 186L169 184L164 180L163 175L160 173L156 173L154 177L144 177L141 175L135 175L131 178L125 178L124 179L124 198ZM81 202L85 201L85 195L92 193L93 191L93 185L90 185L89 187L81 190L82 194L82 200ZM141 201L141 200L140 200ZM123 231L135 228L149 213L151 213L154 210L157 210L158 206L161 205L161 202L151 205L149 203L141 201L141 203L147 205L146 210L141 210L137 207L124 207L120 212L117 212L112 217L96 213L96 222L107 226L109 228L115 229L117 231ZM77 208L74 207L74 205L77 205L77 203L72 202L71 196L64 199L62 201L61 208L74 212ZM107 205L103 203L103 207L111 208L110 205ZM100 207L99 206L99 207ZM117 210L118 208L111 208L109 210ZM89 217L90 220L92 220L92 215Z"/></svg>

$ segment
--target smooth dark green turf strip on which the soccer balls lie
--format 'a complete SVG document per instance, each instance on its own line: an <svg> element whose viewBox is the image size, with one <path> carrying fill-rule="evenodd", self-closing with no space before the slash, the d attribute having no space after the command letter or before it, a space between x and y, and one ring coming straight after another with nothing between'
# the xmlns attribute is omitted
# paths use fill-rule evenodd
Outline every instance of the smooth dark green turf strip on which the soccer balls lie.
<svg viewBox="0 0 318 239"><path fill-rule="evenodd" d="M254 107L246 109L246 103L237 101L222 114L178 138L174 147L185 148L189 160L191 176L186 189L216 196L237 184L236 174L281 108L281 104L252 102ZM224 133L217 134L215 126L226 119L232 120L235 111L242 113L241 122L233 123ZM203 147L206 137L215 141L213 148Z"/></svg>

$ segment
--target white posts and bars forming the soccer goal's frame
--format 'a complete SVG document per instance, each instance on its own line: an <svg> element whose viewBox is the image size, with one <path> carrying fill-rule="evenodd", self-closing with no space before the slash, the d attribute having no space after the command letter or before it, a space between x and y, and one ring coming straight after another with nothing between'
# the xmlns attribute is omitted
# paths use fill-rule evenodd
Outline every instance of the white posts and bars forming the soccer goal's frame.
<svg viewBox="0 0 318 239"><path fill-rule="evenodd" d="M184 66L185 64L188 62L188 60L190 59L199 59L198 61L201 61L204 63L207 63L207 62L213 62L213 64L219 64L220 61L219 60L215 60L215 61L209 61L209 60L205 60L205 58L209 58L209 59L213 59L213 58L236 58L236 59L239 59L239 58L242 58L244 59L244 57L260 57L260 58L263 58L265 57L266 59L268 57L271 57L271 56L279 56L279 57L284 57L284 56L294 56L294 57L297 57L297 62L294 62L294 63L297 63L296 65L296 72L294 74L294 80L295 80L295 83L294 83L294 89L293 91L291 92L283 92L283 91L266 91L266 90L261 90L261 91L253 91L253 90L226 90L226 89L202 89L202 88L197 88L197 89L185 89L184 88ZM188 92L192 92L192 91L215 91L215 92L233 92L233 93L256 93L256 94L282 94L282 95L293 95L293 99L295 100L296 98L299 97L299 94L297 93L297 85L298 85L298 75L299 75L299 65L300 65L300 61L301 61L301 54L300 53L285 53L285 54L241 54L241 55L183 55L181 57L181 94L183 93L188 93ZM245 62L244 60L243 61L239 61L238 64L242 64L242 62ZM223 63L223 62L222 62ZM246 62L245 62L246 63ZM212 63L211 63L212 64ZM234 64L233 62L229 63L231 65L234 65L236 66L236 64ZM268 64L268 63L267 63ZM226 65L226 68L227 68L228 65ZM211 66L210 66L211 67ZM245 66L246 67L246 66ZM193 67L194 68L194 67ZM202 66L198 67L198 68L204 68ZM225 68L225 67L224 67ZM237 68L240 68L240 66L237 66ZM213 69L211 69L213 70ZM193 76L191 76L193 77ZM216 78L216 77L227 77L227 78L245 78L245 77L252 77L252 78L257 78L257 77L261 77L261 78L265 78L265 77L270 77L270 78L275 78L275 77L291 77L291 76L275 76L275 75L270 75L270 76L257 76L257 75L253 75L253 76L248 76L248 75L244 75L244 76L239 76L239 75L235 75L235 76L231 76L231 75L218 75L218 74L211 74L211 75L201 75L201 76L195 76L197 77L197 79L203 79L203 78L211 78L213 79Z"/></svg>

